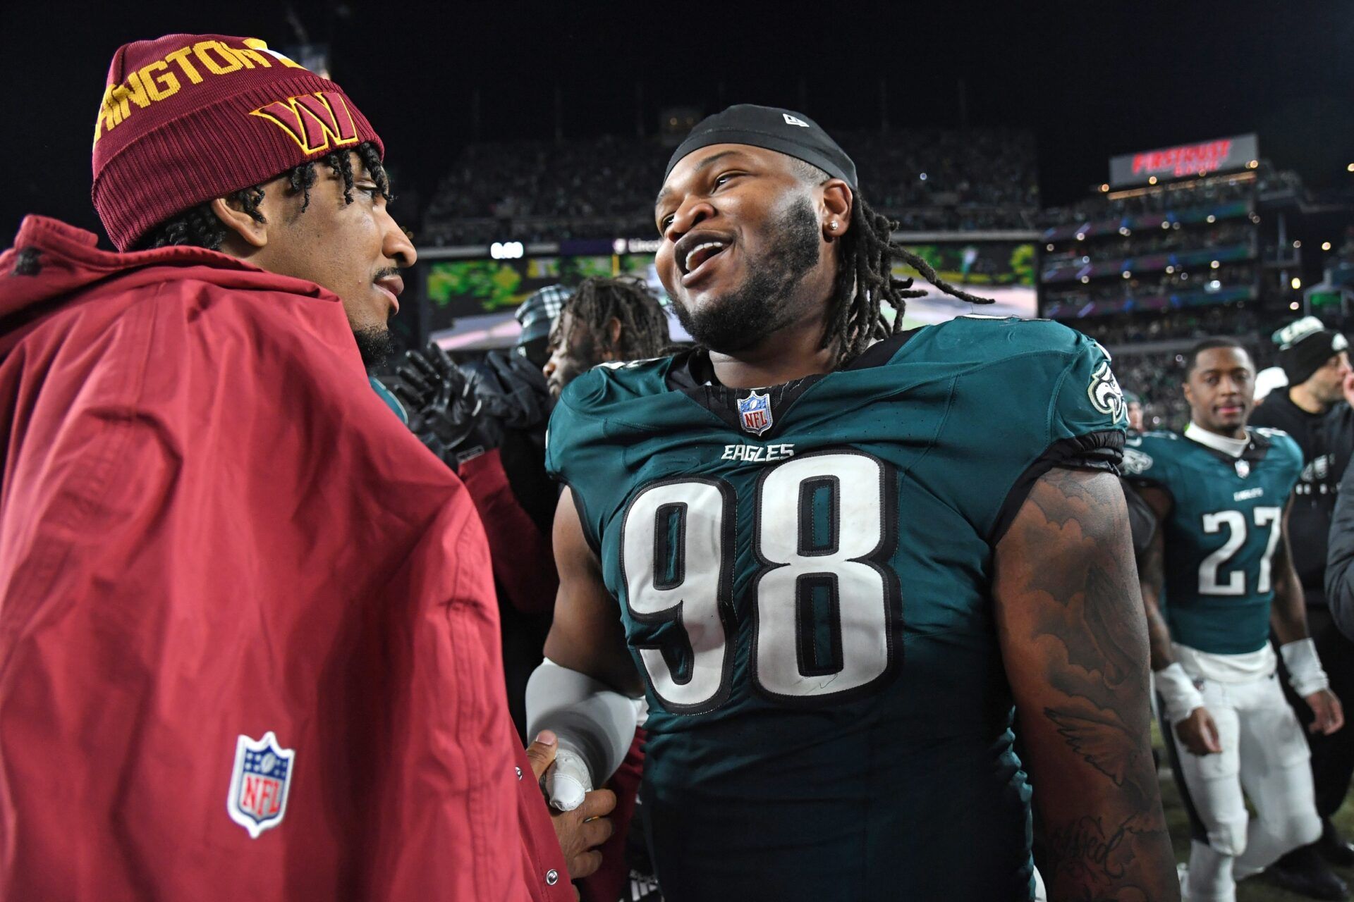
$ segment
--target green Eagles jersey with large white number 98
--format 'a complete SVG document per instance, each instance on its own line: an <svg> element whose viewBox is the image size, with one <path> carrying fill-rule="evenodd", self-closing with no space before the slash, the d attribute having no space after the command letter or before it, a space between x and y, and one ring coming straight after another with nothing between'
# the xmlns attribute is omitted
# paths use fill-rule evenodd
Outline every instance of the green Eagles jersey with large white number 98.
<svg viewBox="0 0 1354 902"><path fill-rule="evenodd" d="M593 369L547 445L645 675L665 898L1029 898L992 549L1039 475L1118 460L1104 349L960 318L766 389L707 371Z"/></svg>

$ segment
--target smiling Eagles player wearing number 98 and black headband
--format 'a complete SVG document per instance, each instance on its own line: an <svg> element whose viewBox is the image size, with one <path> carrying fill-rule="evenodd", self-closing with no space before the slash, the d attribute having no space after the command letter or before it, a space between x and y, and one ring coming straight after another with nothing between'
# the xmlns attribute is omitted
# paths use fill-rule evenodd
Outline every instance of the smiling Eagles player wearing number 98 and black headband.
<svg viewBox="0 0 1354 902"><path fill-rule="evenodd" d="M967 296L800 114L697 126L655 219L701 348L594 369L551 419L561 594L528 717L559 733L556 802L574 759L605 779L643 691L672 902L1029 899L1032 795L1051 898L1174 898L1104 350L894 327L895 257Z"/></svg>

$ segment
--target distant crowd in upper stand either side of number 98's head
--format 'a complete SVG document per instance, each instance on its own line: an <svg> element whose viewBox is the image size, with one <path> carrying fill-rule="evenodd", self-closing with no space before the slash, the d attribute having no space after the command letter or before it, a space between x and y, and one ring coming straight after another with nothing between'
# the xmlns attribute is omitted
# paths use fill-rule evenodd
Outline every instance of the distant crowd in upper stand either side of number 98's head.
<svg viewBox="0 0 1354 902"><path fill-rule="evenodd" d="M875 207L909 231L1028 229L1039 210L1026 131L854 131L842 146L877 173ZM420 241L647 235L662 156L655 141L615 135L473 143L437 184Z"/></svg>

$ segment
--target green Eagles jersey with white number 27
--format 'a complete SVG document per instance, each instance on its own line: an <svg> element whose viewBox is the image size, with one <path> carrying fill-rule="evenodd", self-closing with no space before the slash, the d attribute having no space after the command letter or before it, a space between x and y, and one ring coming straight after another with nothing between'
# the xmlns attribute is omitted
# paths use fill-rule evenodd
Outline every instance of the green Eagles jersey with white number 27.
<svg viewBox="0 0 1354 902"><path fill-rule="evenodd" d="M1284 506L1303 472L1288 433L1251 427L1240 457L1174 433L1128 440L1124 471L1170 492L1164 523L1166 598L1171 638L1213 655L1244 655L1269 642Z"/></svg>

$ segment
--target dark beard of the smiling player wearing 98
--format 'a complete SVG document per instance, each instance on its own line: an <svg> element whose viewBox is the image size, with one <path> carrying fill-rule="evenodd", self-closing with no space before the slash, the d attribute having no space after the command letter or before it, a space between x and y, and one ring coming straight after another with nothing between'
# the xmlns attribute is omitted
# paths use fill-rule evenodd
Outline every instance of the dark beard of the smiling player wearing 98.
<svg viewBox="0 0 1354 902"><path fill-rule="evenodd" d="M692 312L673 304L677 322L703 346L722 354L751 348L792 323L799 311L789 295L818 265L822 245L818 216L808 197L800 197L772 222L770 252L749 269L742 284Z"/></svg>

